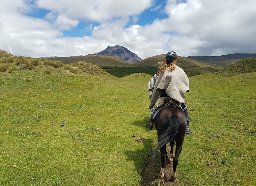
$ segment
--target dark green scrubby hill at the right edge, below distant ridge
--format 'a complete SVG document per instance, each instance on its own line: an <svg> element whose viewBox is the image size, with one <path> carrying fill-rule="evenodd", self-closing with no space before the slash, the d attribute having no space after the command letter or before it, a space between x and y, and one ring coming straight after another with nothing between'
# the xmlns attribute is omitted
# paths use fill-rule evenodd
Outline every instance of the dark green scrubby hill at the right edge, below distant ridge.
<svg viewBox="0 0 256 186"><path fill-rule="evenodd" d="M234 76L242 73L256 72L256 58L242 59L237 63L230 64L227 68L216 72L223 76Z"/></svg>

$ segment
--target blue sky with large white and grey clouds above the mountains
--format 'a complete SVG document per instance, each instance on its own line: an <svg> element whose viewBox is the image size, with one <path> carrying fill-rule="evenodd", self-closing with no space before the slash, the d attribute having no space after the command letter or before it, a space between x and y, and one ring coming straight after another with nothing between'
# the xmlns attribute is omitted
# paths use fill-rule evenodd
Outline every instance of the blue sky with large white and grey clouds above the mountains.
<svg viewBox="0 0 256 186"><path fill-rule="evenodd" d="M256 0L3 0L0 49L88 55L119 44L140 58L256 53Z"/></svg>

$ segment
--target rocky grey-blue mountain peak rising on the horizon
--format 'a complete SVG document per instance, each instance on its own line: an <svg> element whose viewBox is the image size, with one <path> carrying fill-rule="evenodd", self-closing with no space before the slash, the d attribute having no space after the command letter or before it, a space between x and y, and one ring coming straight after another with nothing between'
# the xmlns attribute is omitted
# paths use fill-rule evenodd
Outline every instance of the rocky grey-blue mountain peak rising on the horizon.
<svg viewBox="0 0 256 186"><path fill-rule="evenodd" d="M139 56L137 56L137 54L134 54L133 52L128 50L126 47L120 46L118 44L116 46L108 46L105 50L102 50L94 54L88 54L88 55L96 55L96 56L116 55L120 59L130 62L132 64L142 60Z"/></svg>

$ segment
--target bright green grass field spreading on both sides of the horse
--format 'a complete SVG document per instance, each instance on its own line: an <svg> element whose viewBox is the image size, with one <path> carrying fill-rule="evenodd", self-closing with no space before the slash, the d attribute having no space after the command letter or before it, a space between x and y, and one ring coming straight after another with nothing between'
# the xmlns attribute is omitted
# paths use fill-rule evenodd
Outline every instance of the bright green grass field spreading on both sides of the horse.
<svg viewBox="0 0 256 186"><path fill-rule="evenodd" d="M48 66L0 72L0 185L139 185L156 139L145 127L150 78ZM189 81L193 134L185 136L179 185L255 185L256 73Z"/></svg>

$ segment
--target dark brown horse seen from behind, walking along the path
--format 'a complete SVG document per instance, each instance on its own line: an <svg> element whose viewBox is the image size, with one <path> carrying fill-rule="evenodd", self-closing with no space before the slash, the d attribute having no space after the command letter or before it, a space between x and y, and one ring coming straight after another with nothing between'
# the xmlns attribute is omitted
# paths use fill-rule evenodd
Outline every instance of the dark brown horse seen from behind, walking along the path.
<svg viewBox="0 0 256 186"><path fill-rule="evenodd" d="M173 173L171 179L176 179L176 168L179 162L179 155L182 150L183 141L186 134L186 115L185 112L174 106L161 109L154 122L157 130L158 145L152 158L155 157L156 151L161 152L161 171L159 173L158 186L164 185L164 166L166 163L167 151L166 144L170 142L170 161L173 159ZM173 147L176 142L175 156L173 158Z"/></svg>

